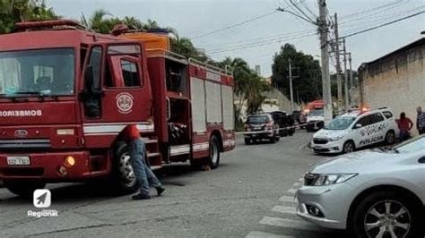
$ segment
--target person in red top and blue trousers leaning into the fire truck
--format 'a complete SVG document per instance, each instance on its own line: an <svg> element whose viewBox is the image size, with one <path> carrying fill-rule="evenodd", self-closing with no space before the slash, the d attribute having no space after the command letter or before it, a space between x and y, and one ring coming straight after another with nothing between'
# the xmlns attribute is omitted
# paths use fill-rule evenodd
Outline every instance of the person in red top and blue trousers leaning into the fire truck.
<svg viewBox="0 0 425 238"><path fill-rule="evenodd" d="M140 186L140 193L132 197L133 200L149 200L151 199L150 189L155 188L158 196L165 191L160 181L153 174L151 168L146 166L146 147L140 136L140 132L135 124L130 124L124 132L128 149L130 152L130 161L133 166L134 175Z"/></svg>

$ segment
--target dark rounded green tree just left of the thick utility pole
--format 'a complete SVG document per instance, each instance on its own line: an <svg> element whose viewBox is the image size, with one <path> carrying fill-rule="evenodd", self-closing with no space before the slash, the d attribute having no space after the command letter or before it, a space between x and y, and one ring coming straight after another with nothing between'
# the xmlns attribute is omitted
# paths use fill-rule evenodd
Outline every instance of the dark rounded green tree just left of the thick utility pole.
<svg viewBox="0 0 425 238"><path fill-rule="evenodd" d="M309 102L322 98L322 77L319 62L312 55L305 55L297 49L286 44L281 51L274 55L272 84L275 88L290 95L289 61L291 59L292 81L294 91L299 92L302 102Z"/></svg>

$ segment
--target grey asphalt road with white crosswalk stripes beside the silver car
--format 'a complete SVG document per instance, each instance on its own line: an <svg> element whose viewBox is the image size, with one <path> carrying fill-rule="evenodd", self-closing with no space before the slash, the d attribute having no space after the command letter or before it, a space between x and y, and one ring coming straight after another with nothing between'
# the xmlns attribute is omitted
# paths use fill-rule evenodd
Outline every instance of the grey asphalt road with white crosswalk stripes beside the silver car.
<svg viewBox="0 0 425 238"><path fill-rule="evenodd" d="M27 217L37 210L32 200L0 189L0 237L343 237L295 216L299 179L329 158L308 150L310 137L296 132L252 146L238 140L209 172L168 167L160 171L164 196L152 200L110 195L107 184L49 185L58 217Z"/></svg>

